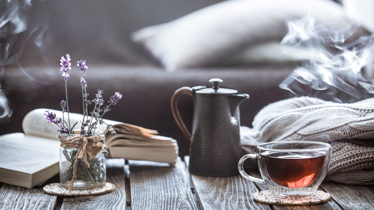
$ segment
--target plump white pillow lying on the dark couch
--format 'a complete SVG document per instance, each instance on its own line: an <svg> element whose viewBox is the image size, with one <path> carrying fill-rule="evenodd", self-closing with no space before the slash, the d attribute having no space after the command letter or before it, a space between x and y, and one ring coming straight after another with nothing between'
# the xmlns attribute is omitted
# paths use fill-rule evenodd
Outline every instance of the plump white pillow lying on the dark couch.
<svg viewBox="0 0 374 210"><path fill-rule="evenodd" d="M168 71L215 64L256 44L282 40L285 21L312 13L316 22L345 24L330 0L228 0L132 34Z"/></svg>

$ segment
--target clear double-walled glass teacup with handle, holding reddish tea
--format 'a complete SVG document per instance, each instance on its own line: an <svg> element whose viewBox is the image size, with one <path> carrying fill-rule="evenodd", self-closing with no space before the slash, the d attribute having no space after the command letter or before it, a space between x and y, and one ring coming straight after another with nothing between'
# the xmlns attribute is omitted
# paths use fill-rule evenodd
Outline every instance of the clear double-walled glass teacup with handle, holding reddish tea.
<svg viewBox="0 0 374 210"><path fill-rule="evenodd" d="M243 170L247 158L256 158L263 179ZM238 163L240 175L254 182L267 183L278 196L310 196L324 180L331 160L331 145L313 141L260 143L256 154L244 155Z"/></svg>

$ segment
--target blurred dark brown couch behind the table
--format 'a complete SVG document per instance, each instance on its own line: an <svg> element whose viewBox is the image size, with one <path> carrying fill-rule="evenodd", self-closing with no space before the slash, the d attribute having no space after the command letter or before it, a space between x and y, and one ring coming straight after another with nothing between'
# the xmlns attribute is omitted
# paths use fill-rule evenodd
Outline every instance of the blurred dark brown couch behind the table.
<svg viewBox="0 0 374 210"><path fill-rule="evenodd" d="M141 27L171 21L217 1L34 1L27 14L34 20L43 14L48 27L44 31L40 27L31 35L19 65L15 62L5 67L1 89L12 102L13 115L1 124L0 135L22 132L22 118L33 109L60 109L65 92L59 59L67 53L73 63L68 79L71 112L82 112L76 61L85 59L91 96L98 88L104 90L104 99L114 92L123 94L106 118L155 129L160 135L177 139L182 157L188 154L188 143L170 108L171 96L179 87L209 86L210 78L223 79L221 87L250 95L240 105L240 113L242 125L251 127L253 117L263 106L287 98L288 93L278 84L292 67L210 67L170 73L129 40L129 34ZM32 42L41 31L45 34L42 53ZM179 109L190 126L192 99L181 97Z"/></svg>

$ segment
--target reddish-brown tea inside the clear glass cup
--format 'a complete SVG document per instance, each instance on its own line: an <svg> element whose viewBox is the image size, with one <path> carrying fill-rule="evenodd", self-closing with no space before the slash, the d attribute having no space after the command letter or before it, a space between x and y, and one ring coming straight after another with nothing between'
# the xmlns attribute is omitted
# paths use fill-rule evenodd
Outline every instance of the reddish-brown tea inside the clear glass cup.
<svg viewBox="0 0 374 210"><path fill-rule="evenodd" d="M310 185L321 173L325 155L283 155L268 157L261 155L270 179L278 185L300 188Z"/></svg>

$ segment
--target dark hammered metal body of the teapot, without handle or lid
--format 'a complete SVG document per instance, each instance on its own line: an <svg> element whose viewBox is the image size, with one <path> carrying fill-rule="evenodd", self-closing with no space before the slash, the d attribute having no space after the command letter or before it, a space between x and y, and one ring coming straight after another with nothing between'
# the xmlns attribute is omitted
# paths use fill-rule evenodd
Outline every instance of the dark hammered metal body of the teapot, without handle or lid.
<svg viewBox="0 0 374 210"><path fill-rule="evenodd" d="M231 96L194 94L189 171L199 176L238 175L241 157L239 108ZM196 103L196 101L198 103ZM237 107L237 104L236 104Z"/></svg>

